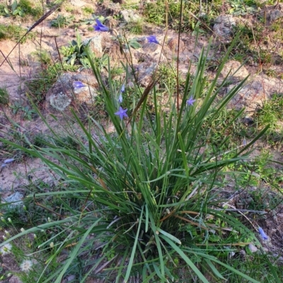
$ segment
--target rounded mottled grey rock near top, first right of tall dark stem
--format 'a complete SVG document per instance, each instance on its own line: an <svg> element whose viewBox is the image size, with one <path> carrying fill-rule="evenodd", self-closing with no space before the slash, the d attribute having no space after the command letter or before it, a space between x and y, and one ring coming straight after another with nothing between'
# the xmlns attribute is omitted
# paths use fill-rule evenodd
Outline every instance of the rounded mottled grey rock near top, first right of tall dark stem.
<svg viewBox="0 0 283 283"><path fill-rule="evenodd" d="M233 28L236 26L236 20L231 15L220 15L215 19L213 31L221 37L224 42L231 42Z"/></svg>

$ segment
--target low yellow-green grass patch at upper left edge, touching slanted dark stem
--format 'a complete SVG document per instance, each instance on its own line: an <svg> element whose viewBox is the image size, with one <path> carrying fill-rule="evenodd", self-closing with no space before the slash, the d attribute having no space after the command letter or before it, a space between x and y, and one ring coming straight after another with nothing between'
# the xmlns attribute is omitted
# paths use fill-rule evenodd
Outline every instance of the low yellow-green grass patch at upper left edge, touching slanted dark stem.
<svg viewBox="0 0 283 283"><path fill-rule="evenodd" d="M18 25L4 25L0 24L0 40L21 40L21 43L26 42L27 40L35 39L35 32L28 32L28 35L25 35L25 28L21 28ZM25 35L25 37L23 37ZM23 37L23 38L22 38Z"/></svg>

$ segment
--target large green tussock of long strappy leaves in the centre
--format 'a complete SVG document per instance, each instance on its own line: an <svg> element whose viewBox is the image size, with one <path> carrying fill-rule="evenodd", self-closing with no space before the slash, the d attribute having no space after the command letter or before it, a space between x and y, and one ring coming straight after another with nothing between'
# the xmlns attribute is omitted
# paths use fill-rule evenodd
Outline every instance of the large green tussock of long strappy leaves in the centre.
<svg viewBox="0 0 283 283"><path fill-rule="evenodd" d="M84 126L73 112L81 138L78 131L74 133L73 122L66 131L77 147L60 143L21 147L40 157L61 177L61 183L67 184L65 191L32 197L57 195L68 213L58 217L58 211L54 221L38 224L1 245L41 229L52 231L52 237L40 244L45 251L52 243L44 282L62 282L77 260L81 262L78 282L95 275L109 282L129 282L131 277L144 283L173 282L178 278L178 267L184 265L187 282L195 282L195 278L197 282L208 283L208 278L219 282L224 275L229 279L229 274L258 282L226 264L238 246L250 242L260 246L260 242L237 215L225 211L217 192L221 191L222 176L229 174L224 167L243 162L250 145L266 128L248 145L231 148L226 154L209 143L209 128L203 126L207 120L212 124L243 84L219 98L221 86L216 86L216 80L229 53L207 86L204 71L208 51L202 51L195 76L187 75L180 109L176 109L174 100L171 111L163 112L151 83L144 93L136 88L141 100L132 107L132 115L125 109L126 99L119 96L121 88L115 88L111 72L105 86L92 55L86 53L115 133L107 133L94 119ZM147 112L149 93L154 100L154 115ZM81 205L67 205L66 199L71 198L81 200ZM62 253L68 253L67 259L56 272L49 273L49 265Z"/></svg>

